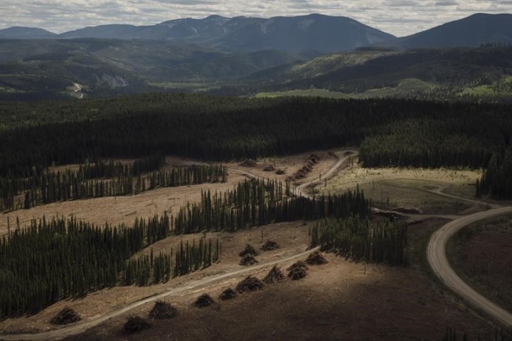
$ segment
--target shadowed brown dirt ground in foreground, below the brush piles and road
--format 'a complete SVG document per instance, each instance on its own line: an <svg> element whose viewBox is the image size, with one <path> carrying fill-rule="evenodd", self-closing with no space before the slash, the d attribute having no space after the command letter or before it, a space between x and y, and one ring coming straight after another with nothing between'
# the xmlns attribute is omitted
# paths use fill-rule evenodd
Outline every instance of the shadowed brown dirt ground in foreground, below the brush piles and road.
<svg viewBox="0 0 512 341"><path fill-rule="evenodd" d="M301 281L286 278L232 301L217 297L242 278L209 288L218 303L210 308L191 305L203 291L173 298L181 315L137 335L122 334L124 315L66 340L440 340L446 326L482 336L491 330L407 269L326 257L329 264L310 266ZM132 313L146 317L151 307Z"/></svg>

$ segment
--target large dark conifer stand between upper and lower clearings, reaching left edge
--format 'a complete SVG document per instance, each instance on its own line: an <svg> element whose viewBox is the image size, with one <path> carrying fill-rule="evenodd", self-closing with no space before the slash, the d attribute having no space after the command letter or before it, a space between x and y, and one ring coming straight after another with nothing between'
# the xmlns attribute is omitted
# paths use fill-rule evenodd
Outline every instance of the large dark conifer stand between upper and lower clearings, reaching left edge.
<svg viewBox="0 0 512 341"><path fill-rule="evenodd" d="M136 220L132 227L95 226L70 219L33 220L0 240L0 318L37 313L63 298L102 288L166 282L220 260L221 245L211 240L181 243L176 252L132 258L171 234L230 231L324 217L367 217L370 201L357 190L341 195L288 197L275 181L244 181L227 193L203 193L176 217L164 214ZM285 192L287 186L284 188ZM213 199L213 200L212 200Z"/></svg>

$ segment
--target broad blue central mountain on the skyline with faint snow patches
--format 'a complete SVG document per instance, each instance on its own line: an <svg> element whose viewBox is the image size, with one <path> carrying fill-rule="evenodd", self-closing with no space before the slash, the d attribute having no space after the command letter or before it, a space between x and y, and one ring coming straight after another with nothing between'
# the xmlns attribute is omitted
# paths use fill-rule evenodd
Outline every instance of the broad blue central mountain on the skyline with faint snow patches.
<svg viewBox="0 0 512 341"><path fill-rule="evenodd" d="M233 50L279 49L334 52L390 40L394 36L346 17L178 19L154 26L106 25L63 33L59 38L137 38L174 40Z"/></svg>

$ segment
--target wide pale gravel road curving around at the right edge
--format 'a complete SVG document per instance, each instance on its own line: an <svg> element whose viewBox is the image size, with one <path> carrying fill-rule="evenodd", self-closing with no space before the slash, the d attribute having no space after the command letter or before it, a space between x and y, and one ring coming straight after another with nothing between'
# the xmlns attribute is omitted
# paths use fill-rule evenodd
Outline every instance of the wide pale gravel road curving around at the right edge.
<svg viewBox="0 0 512 341"><path fill-rule="evenodd" d="M464 300L471 303L471 305L474 305L474 307L484 310L494 319L503 323L503 325L511 326L512 314L496 305L496 303L489 301L489 299L484 296L481 296L481 294L476 292L471 288L471 286L462 281L462 279L457 276L455 271L452 269L452 266L449 265L446 255L448 240L457 233L459 229L462 229L473 222L484 220L486 218L497 217L498 215L504 215L506 213L512 213L512 207L501 207L485 212L478 212L474 215L460 217L457 220L445 224L432 234L427 247L427 259L432 271L434 271L434 274L441 278L448 288L452 289L452 291L464 298Z"/></svg>

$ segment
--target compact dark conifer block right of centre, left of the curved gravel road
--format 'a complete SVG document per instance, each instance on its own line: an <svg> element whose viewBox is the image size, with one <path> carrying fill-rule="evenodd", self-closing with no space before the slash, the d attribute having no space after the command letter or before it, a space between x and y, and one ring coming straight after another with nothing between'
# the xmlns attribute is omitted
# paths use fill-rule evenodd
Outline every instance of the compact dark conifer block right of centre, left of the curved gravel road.
<svg viewBox="0 0 512 341"><path fill-rule="evenodd" d="M309 231L311 247L320 246L357 261L407 266L407 225L353 216L327 219Z"/></svg>

